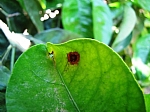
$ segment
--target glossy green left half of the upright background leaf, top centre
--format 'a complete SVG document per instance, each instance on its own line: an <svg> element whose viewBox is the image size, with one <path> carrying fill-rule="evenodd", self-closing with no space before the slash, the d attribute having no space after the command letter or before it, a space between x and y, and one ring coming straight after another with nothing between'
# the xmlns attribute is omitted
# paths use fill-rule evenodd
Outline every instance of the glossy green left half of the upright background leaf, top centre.
<svg viewBox="0 0 150 112"><path fill-rule="evenodd" d="M65 0L62 9L64 28L93 38L91 5L90 0Z"/></svg>

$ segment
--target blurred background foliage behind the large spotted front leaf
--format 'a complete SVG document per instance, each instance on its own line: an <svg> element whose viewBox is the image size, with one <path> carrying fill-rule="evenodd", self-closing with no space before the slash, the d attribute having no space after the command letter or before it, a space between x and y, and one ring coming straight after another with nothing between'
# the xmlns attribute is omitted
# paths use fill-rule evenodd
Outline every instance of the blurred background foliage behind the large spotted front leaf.
<svg viewBox="0 0 150 112"><path fill-rule="evenodd" d="M1 0L0 111L5 110L14 62L29 46L48 41L84 37L104 42L131 68L144 92L149 92L149 4L149 0Z"/></svg>

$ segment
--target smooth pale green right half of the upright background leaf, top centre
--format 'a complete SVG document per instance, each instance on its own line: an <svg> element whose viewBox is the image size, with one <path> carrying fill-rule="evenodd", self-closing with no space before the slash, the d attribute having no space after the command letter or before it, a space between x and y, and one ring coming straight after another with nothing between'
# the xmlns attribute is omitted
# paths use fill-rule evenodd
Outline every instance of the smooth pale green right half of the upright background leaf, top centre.
<svg viewBox="0 0 150 112"><path fill-rule="evenodd" d="M102 0L92 1L94 38L109 44L112 34L112 16L109 7Z"/></svg>

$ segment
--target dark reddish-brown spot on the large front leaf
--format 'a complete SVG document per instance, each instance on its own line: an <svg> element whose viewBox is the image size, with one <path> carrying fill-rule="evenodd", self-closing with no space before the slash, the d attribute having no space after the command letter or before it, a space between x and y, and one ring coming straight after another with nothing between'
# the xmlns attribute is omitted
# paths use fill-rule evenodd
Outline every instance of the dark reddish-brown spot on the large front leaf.
<svg viewBox="0 0 150 112"><path fill-rule="evenodd" d="M67 58L71 65L78 64L80 60L80 54L78 52L69 52L67 54Z"/></svg>

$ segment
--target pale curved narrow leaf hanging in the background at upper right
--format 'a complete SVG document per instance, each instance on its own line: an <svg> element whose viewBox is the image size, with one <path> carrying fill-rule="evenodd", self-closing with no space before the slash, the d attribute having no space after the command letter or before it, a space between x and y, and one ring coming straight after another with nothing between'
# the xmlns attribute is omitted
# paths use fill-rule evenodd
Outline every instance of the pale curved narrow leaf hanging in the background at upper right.
<svg viewBox="0 0 150 112"><path fill-rule="evenodd" d="M136 23L136 15L131 6L125 5L123 21L120 25L120 32L117 35L112 48L119 52L123 50L131 41L131 32Z"/></svg>

